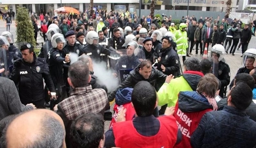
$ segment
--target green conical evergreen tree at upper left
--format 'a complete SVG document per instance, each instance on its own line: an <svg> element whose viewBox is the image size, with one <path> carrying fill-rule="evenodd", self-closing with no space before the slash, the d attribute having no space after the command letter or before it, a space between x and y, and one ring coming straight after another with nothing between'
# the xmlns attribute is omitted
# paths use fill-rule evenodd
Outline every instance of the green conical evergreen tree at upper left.
<svg viewBox="0 0 256 148"><path fill-rule="evenodd" d="M16 43L20 42L28 42L33 44L33 46L36 45L36 40L34 38L34 27L32 25L32 21L29 18L28 15L28 9L25 7L19 7L17 9L16 13L16 35L17 35L17 41Z"/></svg>

